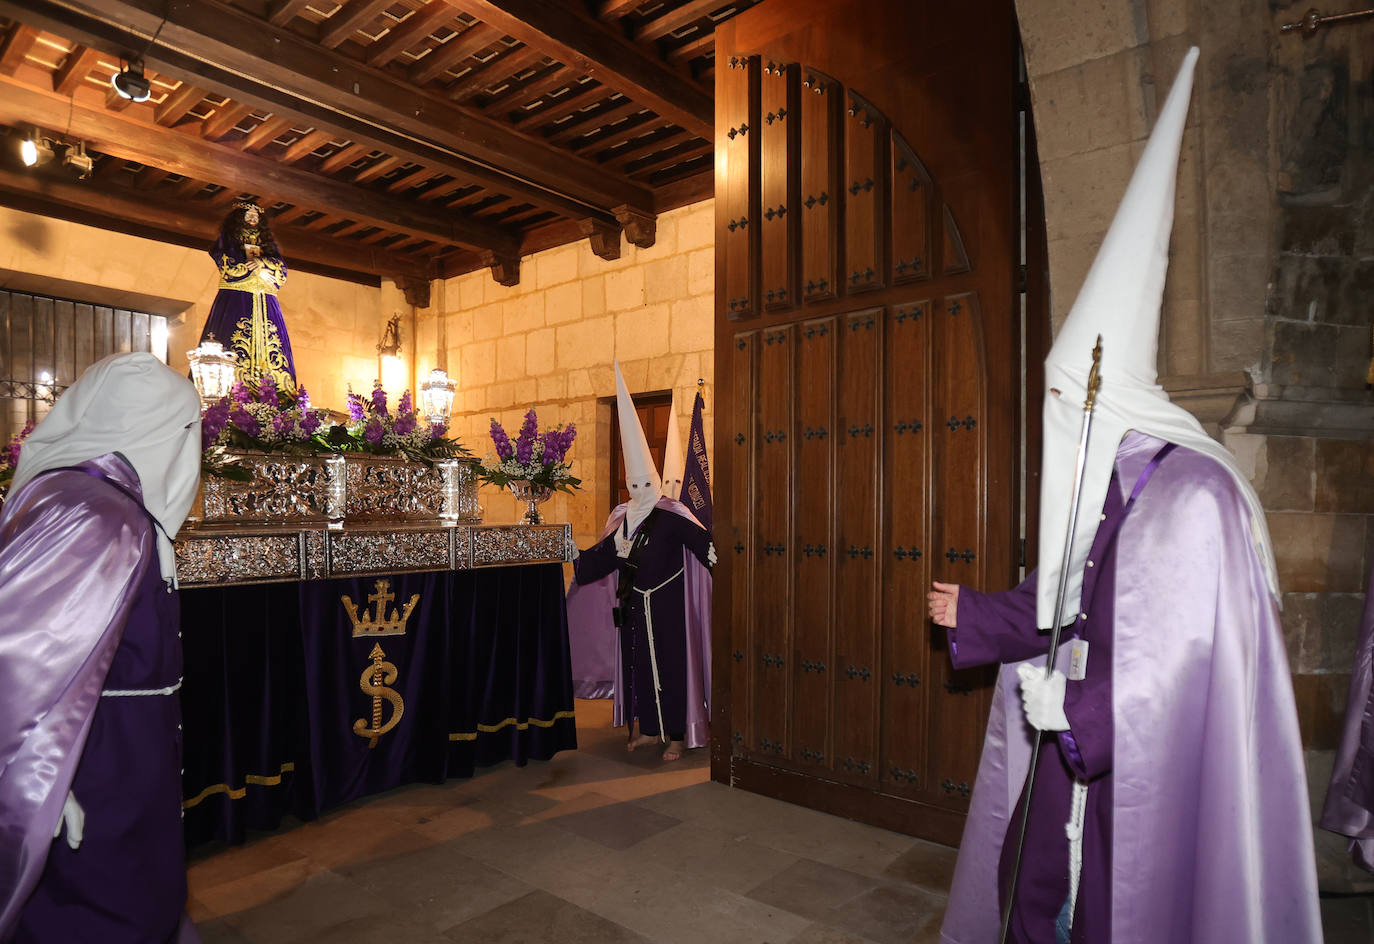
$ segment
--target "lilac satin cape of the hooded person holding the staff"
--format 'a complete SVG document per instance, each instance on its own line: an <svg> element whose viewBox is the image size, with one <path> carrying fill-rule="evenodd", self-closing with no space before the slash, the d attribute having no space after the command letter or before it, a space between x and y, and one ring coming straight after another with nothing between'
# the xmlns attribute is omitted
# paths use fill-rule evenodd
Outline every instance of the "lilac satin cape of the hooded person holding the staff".
<svg viewBox="0 0 1374 944"><path fill-rule="evenodd" d="M1138 433L1123 438L1117 499L1161 445ZM1103 583L1088 599L1103 607L1103 594L1110 598L1112 742L1110 798L1103 804L1101 787L1090 787L1083 930L1095 933L1085 911L1095 899L1109 903L1109 933L1092 944L1320 941L1287 655L1249 510L1230 473L1190 449L1172 452L1121 522L1116 552L1110 591ZM962 628L962 591L958 618ZM1101 655L1094 643L1090 673ZM1036 661L1043 665L1043 655ZM999 864L1030 748L1015 669L1003 665L993 693L941 929L947 944L998 940ZM1087 760L1098 739L1083 708L1066 695L1070 731ZM1040 763L1062 765L1065 756L1051 738ZM1037 797L1040 790L1037 780ZM1040 842L1062 846L1065 819L1052 815ZM1092 852L1094 831L1109 837L1107 851ZM1040 853L1032 848L1028 859Z"/></svg>

